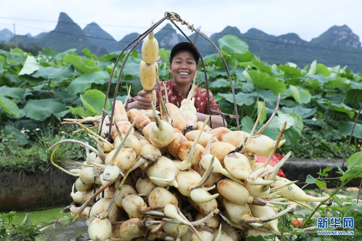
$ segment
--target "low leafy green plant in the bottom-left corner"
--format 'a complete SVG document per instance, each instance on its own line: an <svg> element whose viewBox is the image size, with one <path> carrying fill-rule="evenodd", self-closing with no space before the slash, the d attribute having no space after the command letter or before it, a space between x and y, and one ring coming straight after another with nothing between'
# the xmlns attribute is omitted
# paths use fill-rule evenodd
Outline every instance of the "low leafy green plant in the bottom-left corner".
<svg viewBox="0 0 362 241"><path fill-rule="evenodd" d="M15 215L14 211L0 214L0 241L34 241L36 236L43 233L39 231L37 225L31 223L28 215L25 216L21 225L12 225Z"/></svg>

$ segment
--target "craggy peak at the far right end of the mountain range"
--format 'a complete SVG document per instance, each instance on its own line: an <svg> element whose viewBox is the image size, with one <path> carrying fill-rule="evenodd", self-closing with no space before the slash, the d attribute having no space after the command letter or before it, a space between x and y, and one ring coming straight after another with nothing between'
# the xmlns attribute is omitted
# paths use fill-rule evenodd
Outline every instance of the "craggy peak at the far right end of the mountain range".
<svg viewBox="0 0 362 241"><path fill-rule="evenodd" d="M313 38L311 43L330 48L361 48L358 35L354 34L347 25L334 25L319 37Z"/></svg>

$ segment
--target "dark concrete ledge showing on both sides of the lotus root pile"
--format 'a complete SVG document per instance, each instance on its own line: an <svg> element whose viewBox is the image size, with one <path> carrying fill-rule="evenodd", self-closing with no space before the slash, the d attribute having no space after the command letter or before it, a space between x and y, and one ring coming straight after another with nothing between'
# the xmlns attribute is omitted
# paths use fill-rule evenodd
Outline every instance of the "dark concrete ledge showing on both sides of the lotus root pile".
<svg viewBox="0 0 362 241"><path fill-rule="evenodd" d="M343 160L316 160L290 158L282 167L286 178L305 182L307 175L318 177L319 167L334 167L328 178L338 177L337 165L342 166ZM79 168L68 166L67 169ZM1 171L0 178L0 211L39 210L48 207L67 206L72 202L71 188L76 180L57 168L47 172L21 173ZM328 179L328 188L335 188L337 179ZM359 186L359 178L349 182L348 186ZM303 186L303 184L298 184ZM310 185L310 188L316 188Z"/></svg>

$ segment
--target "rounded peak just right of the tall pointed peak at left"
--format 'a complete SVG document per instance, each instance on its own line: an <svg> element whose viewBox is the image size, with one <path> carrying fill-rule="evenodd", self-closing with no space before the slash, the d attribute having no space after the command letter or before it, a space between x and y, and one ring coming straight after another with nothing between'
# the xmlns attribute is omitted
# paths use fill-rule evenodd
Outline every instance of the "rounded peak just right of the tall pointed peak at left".
<svg viewBox="0 0 362 241"><path fill-rule="evenodd" d="M89 41L97 46L98 53L105 54L117 50L117 41L97 23L89 23L85 26L83 32L85 35L93 37L89 38Z"/></svg>

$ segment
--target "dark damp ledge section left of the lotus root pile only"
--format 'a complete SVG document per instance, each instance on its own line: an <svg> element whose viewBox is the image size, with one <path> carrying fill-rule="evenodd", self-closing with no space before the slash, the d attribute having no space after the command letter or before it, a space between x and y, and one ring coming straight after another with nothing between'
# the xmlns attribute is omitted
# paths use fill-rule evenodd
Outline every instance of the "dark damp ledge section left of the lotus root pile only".
<svg viewBox="0 0 362 241"><path fill-rule="evenodd" d="M74 166L70 167L70 169L74 168ZM4 170L0 170L0 173L1 212L39 210L69 205L72 202L70 193L76 177L58 168L54 167L47 172L37 173Z"/></svg>

